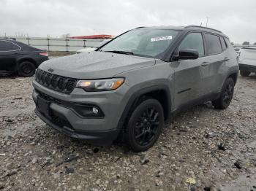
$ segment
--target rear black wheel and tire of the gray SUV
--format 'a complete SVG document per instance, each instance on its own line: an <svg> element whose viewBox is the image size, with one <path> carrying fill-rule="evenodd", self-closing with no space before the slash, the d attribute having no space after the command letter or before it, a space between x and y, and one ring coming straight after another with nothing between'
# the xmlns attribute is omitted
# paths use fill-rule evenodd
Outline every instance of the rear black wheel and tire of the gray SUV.
<svg viewBox="0 0 256 191"><path fill-rule="evenodd" d="M226 109L230 105L233 98L234 86L235 84L232 78L228 78L225 81L219 98L212 101L212 104L216 109Z"/></svg>

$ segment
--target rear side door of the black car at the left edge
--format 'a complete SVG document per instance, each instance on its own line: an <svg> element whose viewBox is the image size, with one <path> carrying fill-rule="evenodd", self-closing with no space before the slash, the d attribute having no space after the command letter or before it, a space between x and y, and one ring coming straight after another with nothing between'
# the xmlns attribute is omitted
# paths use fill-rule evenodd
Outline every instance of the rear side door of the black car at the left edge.
<svg viewBox="0 0 256 191"><path fill-rule="evenodd" d="M20 55L22 50L18 44L0 39L0 73L15 71L16 60Z"/></svg>

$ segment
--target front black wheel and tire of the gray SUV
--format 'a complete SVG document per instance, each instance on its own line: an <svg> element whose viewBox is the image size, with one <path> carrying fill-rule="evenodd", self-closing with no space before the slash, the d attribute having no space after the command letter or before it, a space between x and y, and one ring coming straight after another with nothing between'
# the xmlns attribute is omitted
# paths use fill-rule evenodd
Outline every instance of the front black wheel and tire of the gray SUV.
<svg viewBox="0 0 256 191"><path fill-rule="evenodd" d="M129 117L124 131L124 141L134 152L151 148L164 126L162 105L153 98L142 101Z"/></svg>

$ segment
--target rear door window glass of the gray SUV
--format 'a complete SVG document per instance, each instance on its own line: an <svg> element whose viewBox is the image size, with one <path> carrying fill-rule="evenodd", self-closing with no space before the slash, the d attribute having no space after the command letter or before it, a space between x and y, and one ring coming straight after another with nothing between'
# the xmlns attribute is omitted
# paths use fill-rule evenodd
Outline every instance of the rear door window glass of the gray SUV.
<svg viewBox="0 0 256 191"><path fill-rule="evenodd" d="M222 45L219 41L219 36L213 34L205 34L206 36L206 54L216 55L222 52Z"/></svg>

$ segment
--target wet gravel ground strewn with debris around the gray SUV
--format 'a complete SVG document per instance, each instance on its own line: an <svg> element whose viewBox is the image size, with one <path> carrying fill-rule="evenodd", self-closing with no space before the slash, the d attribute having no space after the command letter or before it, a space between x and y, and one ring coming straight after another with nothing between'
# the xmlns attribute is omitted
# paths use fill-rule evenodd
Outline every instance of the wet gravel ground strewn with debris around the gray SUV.
<svg viewBox="0 0 256 191"><path fill-rule="evenodd" d="M0 190L256 190L256 76L228 109L206 103L165 122L133 153L52 130L34 114L31 78L0 78Z"/></svg>

